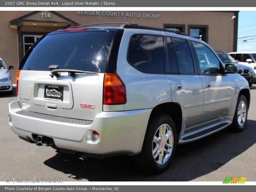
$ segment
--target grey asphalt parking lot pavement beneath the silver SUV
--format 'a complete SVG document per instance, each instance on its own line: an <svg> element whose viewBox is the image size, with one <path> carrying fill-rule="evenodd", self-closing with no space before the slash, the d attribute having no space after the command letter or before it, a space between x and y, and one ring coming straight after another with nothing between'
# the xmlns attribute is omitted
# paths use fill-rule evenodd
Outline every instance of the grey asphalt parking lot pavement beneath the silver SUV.
<svg viewBox="0 0 256 192"><path fill-rule="evenodd" d="M225 177L248 177L247 181L256 181L255 84L243 132L222 130L179 145L168 170L159 175L141 173L129 156L81 161L77 156L21 140L7 120L8 103L13 100L15 95L0 93L0 181L6 177L62 181L223 181Z"/></svg>

